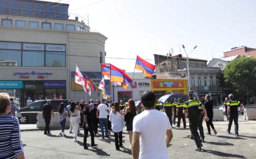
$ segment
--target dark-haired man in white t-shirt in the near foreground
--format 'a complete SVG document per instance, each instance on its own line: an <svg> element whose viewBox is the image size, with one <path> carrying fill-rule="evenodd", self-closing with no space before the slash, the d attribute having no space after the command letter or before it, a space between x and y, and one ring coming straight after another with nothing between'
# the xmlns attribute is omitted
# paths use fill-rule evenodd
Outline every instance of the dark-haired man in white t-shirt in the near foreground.
<svg viewBox="0 0 256 159"><path fill-rule="evenodd" d="M152 91L141 96L144 111L133 119L133 158L170 158L167 145L173 138L167 115L155 110L156 97ZM158 120L155 120L158 119Z"/></svg>

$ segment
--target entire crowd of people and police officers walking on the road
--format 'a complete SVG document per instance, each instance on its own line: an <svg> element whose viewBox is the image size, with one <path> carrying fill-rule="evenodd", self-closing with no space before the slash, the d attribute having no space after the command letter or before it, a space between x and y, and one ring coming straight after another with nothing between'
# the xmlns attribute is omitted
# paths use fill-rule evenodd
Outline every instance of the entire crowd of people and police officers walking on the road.
<svg viewBox="0 0 256 159"><path fill-rule="evenodd" d="M126 126L133 158L169 158L167 145L173 138L173 126L170 118L172 115L178 117L177 127L180 127L180 121L183 119L183 128L186 128L185 114L188 114L191 131L190 138L195 141L197 146L195 150L201 151L202 142L204 142L203 118L206 120L207 135L211 135L211 128L214 134L217 134L212 123L213 103L210 100L210 95L205 96L204 104L194 98L192 91L188 92L188 97L189 100L185 102L180 98L175 99L174 103L170 103L170 100L167 100L163 110L165 113L155 109L157 100L152 91L143 92L141 105L144 110L140 114L133 99L129 99L125 104L123 104L123 101L119 103L111 100L107 103L105 99L101 99L100 104L98 100L96 103L93 103L93 100L90 100L89 103L83 100L80 103L68 101L66 108L65 104L61 103L58 108L58 121L61 126L59 134L60 136L65 135L65 122L68 118L70 121L69 133L73 133L73 140L77 142L76 137L79 133L78 131L80 131L79 124L81 122L80 112L83 112L84 149L88 149L87 137L89 136L91 137L90 146L98 146L95 143L94 136L98 134L99 125L102 139L108 138L112 131L115 138L115 148L120 150L120 147L123 146L122 133ZM238 113L242 110L243 104L234 99L232 94L229 95L229 100L224 102L225 104L227 105L227 118L229 120L227 133L230 134L234 120L235 135L239 136ZM4 143L0 145L0 158L24 158L19 121L13 115L12 109L16 110L16 108L12 108L13 105L7 93L0 93L0 143ZM176 106L175 109L174 106ZM239 110L238 106L240 106ZM48 100L42 108L42 118L45 120L44 134L51 133L49 127L51 116L55 117L51 100ZM173 125L175 125L175 121L173 121Z"/></svg>

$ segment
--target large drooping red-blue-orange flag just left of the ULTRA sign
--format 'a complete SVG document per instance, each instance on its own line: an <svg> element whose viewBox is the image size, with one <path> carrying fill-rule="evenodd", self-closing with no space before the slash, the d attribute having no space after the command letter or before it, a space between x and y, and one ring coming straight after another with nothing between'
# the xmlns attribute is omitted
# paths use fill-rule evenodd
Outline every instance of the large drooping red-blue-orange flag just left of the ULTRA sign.
<svg viewBox="0 0 256 159"><path fill-rule="evenodd" d="M126 89L133 80L122 70L110 64L110 81L123 82L123 88Z"/></svg>

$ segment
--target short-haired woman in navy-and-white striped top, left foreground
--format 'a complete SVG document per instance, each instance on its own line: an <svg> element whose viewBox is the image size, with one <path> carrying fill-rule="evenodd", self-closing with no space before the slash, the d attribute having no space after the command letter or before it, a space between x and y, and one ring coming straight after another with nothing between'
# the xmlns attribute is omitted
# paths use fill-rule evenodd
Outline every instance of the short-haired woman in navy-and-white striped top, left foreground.
<svg viewBox="0 0 256 159"><path fill-rule="evenodd" d="M0 93L0 158L23 159L24 150L18 119L7 116L11 111L10 97Z"/></svg>

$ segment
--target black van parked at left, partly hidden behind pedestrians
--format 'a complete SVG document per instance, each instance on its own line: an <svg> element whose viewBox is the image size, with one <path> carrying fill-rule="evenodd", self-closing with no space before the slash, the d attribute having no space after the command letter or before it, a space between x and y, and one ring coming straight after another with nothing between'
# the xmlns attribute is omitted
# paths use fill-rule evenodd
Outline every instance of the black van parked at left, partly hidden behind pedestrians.
<svg viewBox="0 0 256 159"><path fill-rule="evenodd" d="M73 100L51 100L51 105L54 112L58 112L58 107L61 103L68 105L68 101ZM21 124L27 123L28 121L37 121L37 113L42 113L43 105L46 104L47 100L34 101L27 107L21 108L20 113L17 113L16 117L19 119Z"/></svg>

